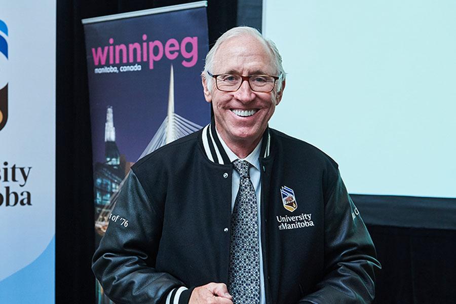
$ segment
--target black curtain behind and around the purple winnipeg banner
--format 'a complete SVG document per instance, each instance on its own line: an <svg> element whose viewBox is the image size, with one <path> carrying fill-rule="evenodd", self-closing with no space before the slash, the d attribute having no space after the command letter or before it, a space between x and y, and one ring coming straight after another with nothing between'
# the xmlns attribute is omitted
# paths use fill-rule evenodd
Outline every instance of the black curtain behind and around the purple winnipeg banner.
<svg viewBox="0 0 456 304"><path fill-rule="evenodd" d="M193 1L57 1L56 303L94 303L92 143L81 19ZM237 1L208 1L209 43L236 26Z"/></svg>

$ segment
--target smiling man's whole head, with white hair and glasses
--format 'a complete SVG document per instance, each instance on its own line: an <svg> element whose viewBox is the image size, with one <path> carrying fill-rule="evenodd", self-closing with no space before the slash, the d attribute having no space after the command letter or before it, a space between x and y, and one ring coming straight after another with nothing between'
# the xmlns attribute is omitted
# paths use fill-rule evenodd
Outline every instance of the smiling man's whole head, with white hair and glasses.
<svg viewBox="0 0 456 304"><path fill-rule="evenodd" d="M231 37L242 31L250 29L225 33L209 52L203 86L206 101L213 102L217 132L238 157L245 158L260 141L282 98L285 73L268 44L259 37L252 39L256 32Z"/></svg>

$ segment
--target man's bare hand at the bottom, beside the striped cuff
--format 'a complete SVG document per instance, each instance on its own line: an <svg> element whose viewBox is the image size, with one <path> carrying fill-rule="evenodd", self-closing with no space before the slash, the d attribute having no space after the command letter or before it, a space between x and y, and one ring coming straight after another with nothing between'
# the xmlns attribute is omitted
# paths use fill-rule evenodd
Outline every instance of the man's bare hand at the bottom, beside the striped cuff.
<svg viewBox="0 0 456 304"><path fill-rule="evenodd" d="M196 287L188 304L233 304L233 297L223 283L209 283Z"/></svg>

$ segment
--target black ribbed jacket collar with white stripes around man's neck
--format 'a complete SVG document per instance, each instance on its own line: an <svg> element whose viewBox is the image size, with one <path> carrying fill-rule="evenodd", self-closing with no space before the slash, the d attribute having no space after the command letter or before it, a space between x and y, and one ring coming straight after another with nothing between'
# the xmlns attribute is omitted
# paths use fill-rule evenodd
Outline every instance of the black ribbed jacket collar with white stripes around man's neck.
<svg viewBox="0 0 456 304"><path fill-rule="evenodd" d="M216 164L227 165L231 164L230 158L226 155L225 149L223 148L220 138L215 130L215 122L212 122L204 127L202 132L203 148L207 158ZM266 128L262 138L260 158L268 157L270 153L271 135L269 134L269 128Z"/></svg>

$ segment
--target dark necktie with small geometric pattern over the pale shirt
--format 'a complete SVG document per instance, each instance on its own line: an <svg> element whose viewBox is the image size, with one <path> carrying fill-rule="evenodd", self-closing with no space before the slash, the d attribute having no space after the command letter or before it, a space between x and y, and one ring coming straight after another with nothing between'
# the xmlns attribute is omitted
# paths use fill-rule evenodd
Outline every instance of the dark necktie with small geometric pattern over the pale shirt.
<svg viewBox="0 0 456 304"><path fill-rule="evenodd" d="M234 304L259 303L259 246L256 194L249 176L250 164L233 162L241 175L231 215L231 245L228 287Z"/></svg>

